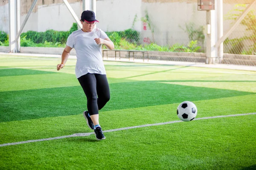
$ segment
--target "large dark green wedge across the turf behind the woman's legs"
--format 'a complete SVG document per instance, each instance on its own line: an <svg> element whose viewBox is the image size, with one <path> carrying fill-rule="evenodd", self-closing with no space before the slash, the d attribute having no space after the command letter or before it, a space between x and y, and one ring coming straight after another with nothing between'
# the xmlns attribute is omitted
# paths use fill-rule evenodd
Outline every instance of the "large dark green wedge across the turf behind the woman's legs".
<svg viewBox="0 0 256 170"><path fill-rule="evenodd" d="M110 82L116 79L109 78ZM170 82L170 81L168 81ZM255 94L216 88L137 81L110 83L111 100L102 111ZM87 110L80 86L0 92L0 122L81 114Z"/></svg>

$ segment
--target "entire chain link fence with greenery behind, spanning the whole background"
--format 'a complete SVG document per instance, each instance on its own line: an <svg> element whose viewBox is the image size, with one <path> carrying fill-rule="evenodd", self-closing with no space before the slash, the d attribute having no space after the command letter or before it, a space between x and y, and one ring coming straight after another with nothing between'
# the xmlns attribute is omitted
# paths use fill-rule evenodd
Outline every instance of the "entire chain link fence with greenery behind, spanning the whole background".
<svg viewBox="0 0 256 170"><path fill-rule="evenodd" d="M224 34L252 1L223 0ZM20 24L32 2L20 0ZM68 2L80 18L82 0ZM256 65L255 9L254 5L224 41L223 63ZM9 45L8 10L8 0L1 0L0 47ZM97 0L96 18L100 21L96 26L108 34L117 50L149 51L149 59L205 62L206 11L198 11L197 0ZM63 0L38 0L20 36L20 45L63 48L77 29ZM108 55L114 57L115 53ZM138 52L134 57L143 55Z"/></svg>

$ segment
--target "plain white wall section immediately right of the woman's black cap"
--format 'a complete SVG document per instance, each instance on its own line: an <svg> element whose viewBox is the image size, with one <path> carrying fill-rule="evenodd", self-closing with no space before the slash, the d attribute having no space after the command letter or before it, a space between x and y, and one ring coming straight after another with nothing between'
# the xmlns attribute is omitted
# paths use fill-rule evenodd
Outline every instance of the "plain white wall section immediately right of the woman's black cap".
<svg viewBox="0 0 256 170"><path fill-rule="evenodd" d="M104 31L124 31L133 26L141 31L141 0L97 0L97 27Z"/></svg>

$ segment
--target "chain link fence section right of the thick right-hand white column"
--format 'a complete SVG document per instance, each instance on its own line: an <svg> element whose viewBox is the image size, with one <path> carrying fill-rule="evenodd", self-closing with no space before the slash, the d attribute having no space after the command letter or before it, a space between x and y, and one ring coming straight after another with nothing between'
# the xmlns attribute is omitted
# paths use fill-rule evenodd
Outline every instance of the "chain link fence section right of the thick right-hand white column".
<svg viewBox="0 0 256 170"><path fill-rule="evenodd" d="M226 0L223 11L224 34L253 0ZM256 5L253 5L239 26L227 37L223 45L222 63L256 65Z"/></svg>

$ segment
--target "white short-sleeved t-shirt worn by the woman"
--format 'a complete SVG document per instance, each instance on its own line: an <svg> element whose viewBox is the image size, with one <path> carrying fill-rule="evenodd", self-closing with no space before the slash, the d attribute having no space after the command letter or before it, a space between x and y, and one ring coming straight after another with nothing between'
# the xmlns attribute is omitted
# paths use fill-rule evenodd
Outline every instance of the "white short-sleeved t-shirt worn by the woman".
<svg viewBox="0 0 256 170"><path fill-rule="evenodd" d="M87 73L106 74L102 60L102 45L96 44L94 38L108 38L99 28L91 32L81 29L74 31L67 38L67 46L76 49L76 78Z"/></svg>

